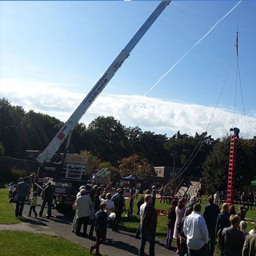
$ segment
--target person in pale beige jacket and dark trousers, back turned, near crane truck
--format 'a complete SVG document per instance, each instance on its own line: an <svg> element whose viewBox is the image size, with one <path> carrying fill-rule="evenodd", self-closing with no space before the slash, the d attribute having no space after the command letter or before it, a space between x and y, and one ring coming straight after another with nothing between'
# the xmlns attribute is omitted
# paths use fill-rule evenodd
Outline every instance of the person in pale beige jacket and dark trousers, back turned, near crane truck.
<svg viewBox="0 0 256 256"><path fill-rule="evenodd" d="M81 189L81 196L76 200L77 211L77 229L76 235L81 236L81 227L83 224L83 236L87 236L87 225L92 211L92 199L90 195L86 195L86 190Z"/></svg>

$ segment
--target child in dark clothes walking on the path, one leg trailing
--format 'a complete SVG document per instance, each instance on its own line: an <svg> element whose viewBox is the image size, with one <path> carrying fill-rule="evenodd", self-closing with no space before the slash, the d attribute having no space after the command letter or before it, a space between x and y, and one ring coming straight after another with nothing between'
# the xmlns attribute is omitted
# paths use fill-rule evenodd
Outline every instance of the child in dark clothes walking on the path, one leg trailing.
<svg viewBox="0 0 256 256"><path fill-rule="evenodd" d="M95 232L96 243L90 247L90 253L96 249L96 256L100 256L99 246L106 239L108 214L105 212L107 204L105 202L100 203L100 211L95 213Z"/></svg>

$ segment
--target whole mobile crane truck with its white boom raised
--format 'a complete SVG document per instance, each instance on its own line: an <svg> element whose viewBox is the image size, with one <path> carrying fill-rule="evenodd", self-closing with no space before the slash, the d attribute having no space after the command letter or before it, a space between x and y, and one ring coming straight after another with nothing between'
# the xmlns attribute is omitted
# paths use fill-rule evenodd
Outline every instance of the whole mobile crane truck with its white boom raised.
<svg viewBox="0 0 256 256"><path fill-rule="evenodd" d="M52 139L49 145L45 148L45 150L36 158L39 163L38 168L38 177L54 177L55 180L59 181L68 181L73 184L75 181L80 180L83 182L83 174L84 168L86 168L86 161L81 160L81 162L71 162L67 161L68 157L67 148L70 142L70 137L72 131L74 130L75 125L82 118L87 109L92 105L93 101L99 96L102 90L106 87L109 81L115 76L116 71L122 66L124 61L129 57L130 52L134 49L135 45L138 44L140 39L145 35L150 26L154 23L157 17L163 12L163 10L170 4L171 1L161 1L157 6L156 10L152 12L150 17L144 22L141 28L137 31L137 33L132 37L129 43L124 47L124 49L118 54L113 63L108 67L106 72L100 77L99 81L93 86L92 90L86 95L81 104L76 108L74 113L68 118L67 122L61 127L60 131L56 134L56 136ZM52 161L54 158L54 154L56 154L57 150L60 148L63 141L67 139L67 145L65 147L65 152L63 154L62 160L60 161ZM74 168L72 168L71 172L70 168L68 168L68 163L70 163ZM78 167L77 167L78 166ZM79 166L82 168L79 169ZM76 168L77 167L77 168ZM63 172L64 169L64 172ZM76 170L77 169L77 170ZM79 173L80 170L80 173ZM77 171L77 172L76 172ZM71 175L69 175L71 173ZM78 173L78 174L76 174ZM64 174L64 175L63 175ZM63 177L64 176L64 177ZM77 179L79 177L79 179ZM59 186L61 182L58 183ZM62 189L62 190L61 190ZM56 184L56 191L61 193L61 200L63 201L63 196L67 194L67 189L58 188ZM72 193L72 196L76 195L76 193ZM71 195L66 195L65 197L70 198ZM58 198L58 196L57 196ZM72 200L70 200L72 201Z"/></svg>

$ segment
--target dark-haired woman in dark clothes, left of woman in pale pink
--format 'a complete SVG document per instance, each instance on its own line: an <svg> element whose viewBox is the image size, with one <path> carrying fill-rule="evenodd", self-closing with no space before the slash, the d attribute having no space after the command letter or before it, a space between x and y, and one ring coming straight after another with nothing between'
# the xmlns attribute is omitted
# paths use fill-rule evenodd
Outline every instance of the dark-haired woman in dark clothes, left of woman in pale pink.
<svg viewBox="0 0 256 256"><path fill-rule="evenodd" d="M166 243L165 248L172 249L172 239L173 239L173 231L174 231L174 225L176 221L176 213L175 208L178 205L177 200L172 200L171 205L168 209L168 221L167 221L167 237L166 237Z"/></svg>

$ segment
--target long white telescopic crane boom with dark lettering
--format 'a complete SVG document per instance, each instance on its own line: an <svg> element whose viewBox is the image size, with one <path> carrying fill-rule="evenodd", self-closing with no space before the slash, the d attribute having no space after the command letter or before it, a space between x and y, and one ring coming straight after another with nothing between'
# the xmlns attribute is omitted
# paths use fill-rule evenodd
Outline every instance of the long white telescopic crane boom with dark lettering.
<svg viewBox="0 0 256 256"><path fill-rule="evenodd" d="M156 10L152 12L150 17L144 22L141 28L137 31L137 33L132 37L129 43L125 46L124 50L118 54L113 63L109 66L106 72L100 77L99 81L93 86L92 90L86 95L84 100L79 104L77 109L72 113L70 118L68 118L67 122L61 127L60 131L56 134L56 136L52 139L49 145L45 148L45 150L40 154L36 160L39 163L49 163L54 156L55 152L60 148L61 144L68 136L70 132L73 131L75 125L82 118L86 110L92 105L93 101L99 96L100 92L106 87L112 77L115 75L118 68L122 66L125 59L128 58L130 52L135 47L136 44L140 41L143 35L147 32L150 26L154 23L157 17L163 12L164 8L168 6L171 1L161 1L161 3L157 6Z"/></svg>

